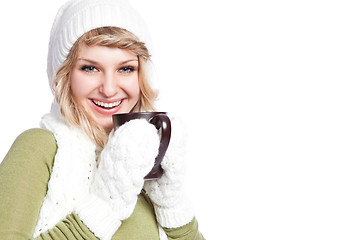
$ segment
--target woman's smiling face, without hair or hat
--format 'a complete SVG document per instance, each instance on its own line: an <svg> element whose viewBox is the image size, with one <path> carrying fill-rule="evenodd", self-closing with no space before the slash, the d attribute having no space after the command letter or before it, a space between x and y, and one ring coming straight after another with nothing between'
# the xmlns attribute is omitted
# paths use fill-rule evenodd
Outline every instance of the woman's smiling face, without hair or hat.
<svg viewBox="0 0 360 240"><path fill-rule="evenodd" d="M138 57L128 50L82 43L70 81L76 103L111 130L112 115L130 112L140 98Z"/></svg>

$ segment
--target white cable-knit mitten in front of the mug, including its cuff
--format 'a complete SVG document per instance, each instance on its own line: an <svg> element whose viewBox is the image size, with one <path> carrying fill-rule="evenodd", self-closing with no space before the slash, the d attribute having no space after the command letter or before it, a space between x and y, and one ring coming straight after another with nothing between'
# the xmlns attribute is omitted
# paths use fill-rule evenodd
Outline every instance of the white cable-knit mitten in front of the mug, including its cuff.
<svg viewBox="0 0 360 240"><path fill-rule="evenodd" d="M76 210L97 237L111 239L132 214L158 149L157 130L145 119L127 122L110 134L90 194Z"/></svg>

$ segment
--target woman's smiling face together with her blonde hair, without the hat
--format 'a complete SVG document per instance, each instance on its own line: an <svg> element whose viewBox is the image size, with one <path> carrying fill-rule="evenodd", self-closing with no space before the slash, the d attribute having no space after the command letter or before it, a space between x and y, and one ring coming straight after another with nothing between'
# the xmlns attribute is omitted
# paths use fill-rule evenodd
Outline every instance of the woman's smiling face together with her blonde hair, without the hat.
<svg viewBox="0 0 360 240"><path fill-rule="evenodd" d="M101 27L83 34L53 82L65 119L82 123L85 132L104 146L112 114L154 111L157 92L147 72L149 58L144 43L126 29Z"/></svg>

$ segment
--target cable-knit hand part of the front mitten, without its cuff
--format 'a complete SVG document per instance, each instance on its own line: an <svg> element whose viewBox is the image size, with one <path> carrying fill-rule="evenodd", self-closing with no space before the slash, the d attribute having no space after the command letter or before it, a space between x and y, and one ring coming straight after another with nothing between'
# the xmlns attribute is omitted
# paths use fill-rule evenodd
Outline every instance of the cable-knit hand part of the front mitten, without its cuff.
<svg viewBox="0 0 360 240"><path fill-rule="evenodd" d="M122 220L131 215L158 149L157 130L145 119L127 122L109 136L95 175L94 190L114 205Z"/></svg>

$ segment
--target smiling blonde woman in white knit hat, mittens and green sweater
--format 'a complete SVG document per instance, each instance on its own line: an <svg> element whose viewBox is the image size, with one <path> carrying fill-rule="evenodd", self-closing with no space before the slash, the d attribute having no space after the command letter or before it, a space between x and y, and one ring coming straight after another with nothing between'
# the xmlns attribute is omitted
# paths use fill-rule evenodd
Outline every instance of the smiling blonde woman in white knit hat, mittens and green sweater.
<svg viewBox="0 0 360 240"><path fill-rule="evenodd" d="M184 196L181 127L144 181L159 137L145 120L113 131L112 115L155 110L149 38L124 0L74 0L51 31L55 101L0 165L1 239L203 239Z"/></svg>

